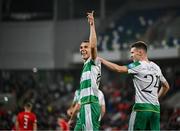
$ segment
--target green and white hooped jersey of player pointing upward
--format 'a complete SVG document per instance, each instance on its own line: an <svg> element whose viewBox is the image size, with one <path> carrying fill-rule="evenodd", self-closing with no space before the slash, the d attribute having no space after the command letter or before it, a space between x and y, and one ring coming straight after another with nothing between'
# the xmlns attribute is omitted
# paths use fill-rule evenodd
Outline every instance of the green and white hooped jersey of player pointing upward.
<svg viewBox="0 0 180 131"><path fill-rule="evenodd" d="M100 60L88 59L83 66L80 80L80 103L98 102L98 88L101 78Z"/></svg>

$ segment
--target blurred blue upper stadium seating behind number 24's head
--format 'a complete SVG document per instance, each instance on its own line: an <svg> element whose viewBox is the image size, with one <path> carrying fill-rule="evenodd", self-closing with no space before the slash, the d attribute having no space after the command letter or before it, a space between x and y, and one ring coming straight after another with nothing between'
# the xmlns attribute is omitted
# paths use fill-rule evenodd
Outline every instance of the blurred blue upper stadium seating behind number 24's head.
<svg viewBox="0 0 180 131"><path fill-rule="evenodd" d="M179 21L179 14L178 7L128 10L100 33L98 49L123 50L136 40L145 40L152 47L178 46L180 35L173 35L171 26Z"/></svg>

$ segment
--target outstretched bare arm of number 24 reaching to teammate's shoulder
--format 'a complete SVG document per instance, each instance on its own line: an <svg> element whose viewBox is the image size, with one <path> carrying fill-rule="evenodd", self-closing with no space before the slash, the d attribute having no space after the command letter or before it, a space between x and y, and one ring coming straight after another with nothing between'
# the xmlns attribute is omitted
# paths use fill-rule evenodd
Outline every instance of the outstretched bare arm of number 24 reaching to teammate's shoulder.
<svg viewBox="0 0 180 131"><path fill-rule="evenodd" d="M119 72L119 73L128 73L128 68L126 66L117 65L115 63L109 62L100 57L99 57L99 59L100 59L101 63L104 64L110 70L113 70L113 71Z"/></svg>

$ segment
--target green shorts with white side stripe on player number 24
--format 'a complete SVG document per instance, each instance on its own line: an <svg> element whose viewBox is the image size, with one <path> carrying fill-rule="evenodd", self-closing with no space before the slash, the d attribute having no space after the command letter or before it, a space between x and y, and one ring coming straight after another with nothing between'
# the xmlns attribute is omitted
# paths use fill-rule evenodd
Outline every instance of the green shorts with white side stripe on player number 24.
<svg viewBox="0 0 180 131"><path fill-rule="evenodd" d="M128 130L160 130L160 113L132 111Z"/></svg>

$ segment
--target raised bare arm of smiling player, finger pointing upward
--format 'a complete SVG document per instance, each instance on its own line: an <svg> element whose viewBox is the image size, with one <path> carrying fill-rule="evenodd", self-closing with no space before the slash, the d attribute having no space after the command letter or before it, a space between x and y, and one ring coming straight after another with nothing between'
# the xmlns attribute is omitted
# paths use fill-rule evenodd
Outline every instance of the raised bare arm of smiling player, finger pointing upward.
<svg viewBox="0 0 180 131"><path fill-rule="evenodd" d="M90 25L89 43L91 46L91 58L94 60L97 57L97 36L93 14L94 11L92 11L91 13L87 13L87 18Z"/></svg>

